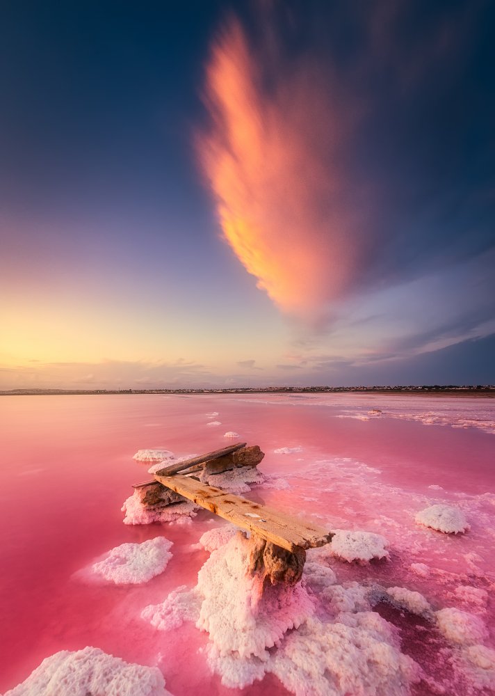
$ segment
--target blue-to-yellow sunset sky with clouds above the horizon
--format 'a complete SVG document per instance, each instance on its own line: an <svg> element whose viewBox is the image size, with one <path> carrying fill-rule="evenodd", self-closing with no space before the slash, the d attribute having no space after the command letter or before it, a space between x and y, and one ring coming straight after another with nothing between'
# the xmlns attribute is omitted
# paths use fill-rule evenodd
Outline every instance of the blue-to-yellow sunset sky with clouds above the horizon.
<svg viewBox="0 0 495 696"><path fill-rule="evenodd" d="M494 3L0 15L0 389L495 383Z"/></svg>

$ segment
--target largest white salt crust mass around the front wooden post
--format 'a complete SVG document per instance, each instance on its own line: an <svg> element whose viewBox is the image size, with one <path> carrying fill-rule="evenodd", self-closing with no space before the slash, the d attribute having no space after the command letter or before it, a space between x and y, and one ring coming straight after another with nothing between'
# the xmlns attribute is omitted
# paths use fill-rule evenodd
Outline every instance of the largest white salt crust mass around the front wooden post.
<svg viewBox="0 0 495 696"><path fill-rule="evenodd" d="M261 578L247 572L250 542L238 532L219 546L229 535L225 528L203 535L214 550L193 590L179 588L143 611L168 630L179 621L173 608L184 606L183 620L209 633L206 658L225 686L243 688L271 672L296 696L398 696L419 681L397 629L371 610L380 593L337 585L327 556L313 550L302 583L261 592Z"/></svg>

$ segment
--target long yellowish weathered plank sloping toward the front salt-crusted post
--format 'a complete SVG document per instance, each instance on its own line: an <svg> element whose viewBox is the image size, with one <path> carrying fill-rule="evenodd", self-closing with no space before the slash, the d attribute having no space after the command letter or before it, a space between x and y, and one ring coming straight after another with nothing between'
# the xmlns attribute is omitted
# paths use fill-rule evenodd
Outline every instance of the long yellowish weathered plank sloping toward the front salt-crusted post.
<svg viewBox="0 0 495 696"><path fill-rule="evenodd" d="M297 553L300 548L323 546L333 537L332 532L323 527L253 503L252 500L233 496L222 489L206 486L195 479L180 474L163 476L158 472L154 477L157 482L193 503L291 553Z"/></svg>

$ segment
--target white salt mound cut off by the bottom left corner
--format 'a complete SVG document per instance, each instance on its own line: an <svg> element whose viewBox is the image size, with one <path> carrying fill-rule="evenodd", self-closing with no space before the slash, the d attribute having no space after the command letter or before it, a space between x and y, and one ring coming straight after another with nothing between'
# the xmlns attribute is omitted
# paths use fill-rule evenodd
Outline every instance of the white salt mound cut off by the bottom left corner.
<svg viewBox="0 0 495 696"><path fill-rule="evenodd" d="M143 667L99 648L62 650L42 661L5 696L172 696L158 667Z"/></svg>

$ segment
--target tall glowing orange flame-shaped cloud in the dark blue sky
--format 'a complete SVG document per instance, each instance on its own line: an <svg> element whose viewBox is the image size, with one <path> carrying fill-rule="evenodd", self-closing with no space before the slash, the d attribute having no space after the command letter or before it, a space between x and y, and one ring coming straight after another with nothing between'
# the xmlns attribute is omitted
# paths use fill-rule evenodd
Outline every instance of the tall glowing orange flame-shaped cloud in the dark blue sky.
<svg viewBox="0 0 495 696"><path fill-rule="evenodd" d="M277 306L320 319L365 250L346 167L360 106L327 67L284 58L273 33L250 49L231 19L206 69L197 139L223 235Z"/></svg>

